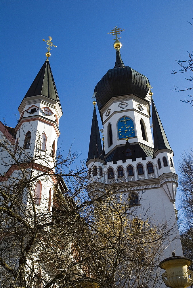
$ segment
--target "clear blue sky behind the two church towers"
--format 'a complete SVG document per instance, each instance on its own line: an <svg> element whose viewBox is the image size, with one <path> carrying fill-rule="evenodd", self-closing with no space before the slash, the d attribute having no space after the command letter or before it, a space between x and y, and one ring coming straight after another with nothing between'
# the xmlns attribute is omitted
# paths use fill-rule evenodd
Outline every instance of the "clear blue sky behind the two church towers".
<svg viewBox="0 0 193 288"><path fill-rule="evenodd" d="M174 150L174 163L192 146L192 107L179 99L186 92L184 77L173 75L175 59L188 59L192 50L192 0L1 0L1 105L0 120L16 126L24 95L46 60L46 43L57 48L49 62L63 113L60 142L64 153L72 144L87 159L92 94L103 75L114 67L115 50L107 33L118 26L125 65L146 75L160 119ZM151 120L150 120L151 121ZM102 128L98 113L99 127Z"/></svg>

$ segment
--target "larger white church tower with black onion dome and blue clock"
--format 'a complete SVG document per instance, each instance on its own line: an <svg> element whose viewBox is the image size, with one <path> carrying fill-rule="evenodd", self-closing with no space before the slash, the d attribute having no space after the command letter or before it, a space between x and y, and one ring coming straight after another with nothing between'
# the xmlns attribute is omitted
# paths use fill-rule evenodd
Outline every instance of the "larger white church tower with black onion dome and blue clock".
<svg viewBox="0 0 193 288"><path fill-rule="evenodd" d="M107 71L94 90L104 129L104 149L100 141L96 103L93 102L86 162L90 181L95 183L93 187L98 185L102 191L112 185L116 185L120 191L127 187L130 191L129 205L136 206L139 215L149 209L156 221L165 221L169 227L175 227L175 240L167 247L165 256L171 256L174 250L177 255L182 255L176 224L178 178L173 164L173 150L152 99L148 78L125 66L121 59L118 35L122 31L115 27L110 32L116 40L115 66ZM89 185L88 190L92 195L92 185Z"/></svg>

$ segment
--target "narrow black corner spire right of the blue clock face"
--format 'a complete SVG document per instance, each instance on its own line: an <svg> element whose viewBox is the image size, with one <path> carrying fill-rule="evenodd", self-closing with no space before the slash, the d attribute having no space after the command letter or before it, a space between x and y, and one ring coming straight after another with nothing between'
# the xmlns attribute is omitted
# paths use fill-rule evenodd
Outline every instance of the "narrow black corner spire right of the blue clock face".
<svg viewBox="0 0 193 288"><path fill-rule="evenodd" d="M158 150L171 149L167 140L164 128L161 124L157 109L152 99L152 124L153 124L153 135L154 135L154 153Z"/></svg>

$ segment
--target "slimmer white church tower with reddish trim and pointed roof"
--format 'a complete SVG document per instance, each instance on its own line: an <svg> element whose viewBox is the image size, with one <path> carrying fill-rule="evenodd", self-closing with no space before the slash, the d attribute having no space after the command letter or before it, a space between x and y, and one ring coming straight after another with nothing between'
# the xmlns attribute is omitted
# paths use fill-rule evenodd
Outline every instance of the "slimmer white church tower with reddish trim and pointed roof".
<svg viewBox="0 0 193 288"><path fill-rule="evenodd" d="M47 60L39 70L33 83L24 96L18 110L20 119L15 128L16 133L16 157L20 153L17 147L22 147L23 158L33 169L33 177L37 175L38 181L34 183L37 209L51 211L51 199L53 199L55 176L56 148L59 131L59 120L62 116L62 108L56 90L56 85L51 72L48 57L52 45L51 37L47 41ZM32 161L30 162L30 159ZM33 167L32 167L33 166ZM46 175L42 178L38 175Z"/></svg>

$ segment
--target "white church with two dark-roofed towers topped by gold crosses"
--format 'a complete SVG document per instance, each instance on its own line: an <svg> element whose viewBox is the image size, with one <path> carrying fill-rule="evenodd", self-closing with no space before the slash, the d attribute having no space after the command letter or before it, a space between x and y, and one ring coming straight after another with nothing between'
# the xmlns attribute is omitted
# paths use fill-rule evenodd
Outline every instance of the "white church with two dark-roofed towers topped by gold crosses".
<svg viewBox="0 0 193 288"><path fill-rule="evenodd" d="M172 251L181 256L183 253L176 223L177 175L173 150L154 104L148 78L125 66L121 58L121 42L118 38L121 31L115 27L111 32L115 36L115 66L106 72L94 89L93 118L86 161L89 178L87 190L91 198L96 193L96 186L99 194L114 186L120 192L129 191L129 207L136 209L138 215L143 215L148 210L155 221L167 223L173 230L174 240L165 249L163 258L170 257ZM49 37L50 46L53 44L51 40ZM62 107L48 60L50 55L48 50L47 60L19 105L20 118L16 127L11 128L0 122L1 139L7 141L7 147L14 146L13 152L10 149L0 151L1 183L8 181L10 177L18 179L14 183L22 181L22 169L18 169L15 156L22 154L24 159L33 159L33 179L37 177L38 181L30 199L34 199L33 207L41 213L52 213L57 206L53 189L55 183L59 183L60 190L64 193L68 189L63 178L58 180L55 168L52 168L56 161ZM103 145L96 105L103 125ZM30 166L29 162L28 165ZM45 171L49 171L46 176ZM11 191L11 185L9 188ZM29 204L27 193L22 194L22 197ZM41 270L37 270L38 273L42 273Z"/></svg>

